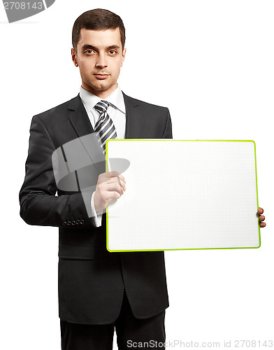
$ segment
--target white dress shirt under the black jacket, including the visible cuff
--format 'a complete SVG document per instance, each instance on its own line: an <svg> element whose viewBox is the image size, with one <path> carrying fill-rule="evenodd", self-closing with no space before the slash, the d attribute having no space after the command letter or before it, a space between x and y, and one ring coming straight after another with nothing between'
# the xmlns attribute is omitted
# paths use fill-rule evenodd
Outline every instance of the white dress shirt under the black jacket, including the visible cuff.
<svg viewBox="0 0 274 350"><path fill-rule="evenodd" d="M85 106L90 123L92 123L92 127L94 128L100 116L100 113L94 109L94 106L101 101L101 98L83 89L82 86L80 87L80 98ZM117 139L124 139L126 133L126 106L124 105L124 97L120 87L117 86L103 101L110 103L110 106L108 106L108 116L113 120ZM101 226L103 212L99 211L96 213L94 208L94 193L92 193L91 205L95 225L99 227Z"/></svg>

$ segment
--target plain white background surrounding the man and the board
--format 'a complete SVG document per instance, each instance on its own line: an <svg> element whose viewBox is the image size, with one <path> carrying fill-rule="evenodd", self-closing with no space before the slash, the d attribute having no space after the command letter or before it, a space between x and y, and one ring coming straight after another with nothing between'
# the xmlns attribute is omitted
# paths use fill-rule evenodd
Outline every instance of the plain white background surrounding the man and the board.
<svg viewBox="0 0 274 350"><path fill-rule="evenodd" d="M221 346L231 339L231 347L235 339L255 339L262 347L274 338L273 1L56 0L13 24L0 9L1 349L60 349L58 230L24 223L18 193L31 117L78 94L71 29L92 8L124 20L120 86L167 106L174 139L256 142L259 205L268 223L261 248L166 252L166 337ZM234 209L240 222L237 203ZM214 213L212 207L212 221Z"/></svg>

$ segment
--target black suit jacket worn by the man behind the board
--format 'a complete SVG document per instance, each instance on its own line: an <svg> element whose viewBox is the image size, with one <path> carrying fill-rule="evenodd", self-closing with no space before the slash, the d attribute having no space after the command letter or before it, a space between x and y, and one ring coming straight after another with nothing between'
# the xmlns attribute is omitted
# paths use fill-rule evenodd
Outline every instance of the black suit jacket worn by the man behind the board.
<svg viewBox="0 0 274 350"><path fill-rule="evenodd" d="M127 139L172 138L167 108L123 95ZM102 226L96 228L94 219L87 215L80 191L64 192L55 182L52 153L92 132L79 94L32 118L26 176L20 190L20 216L29 225L59 227L61 319L113 323L120 313L124 289L134 316L149 318L168 307L164 252L108 252L106 214Z"/></svg>

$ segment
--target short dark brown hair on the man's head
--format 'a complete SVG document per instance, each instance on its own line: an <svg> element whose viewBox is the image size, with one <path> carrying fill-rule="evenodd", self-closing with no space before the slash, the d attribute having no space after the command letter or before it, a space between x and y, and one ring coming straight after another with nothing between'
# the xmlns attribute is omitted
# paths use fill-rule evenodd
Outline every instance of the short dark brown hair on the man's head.
<svg viewBox="0 0 274 350"><path fill-rule="evenodd" d="M95 8L94 10L82 13L82 15L75 20L72 29L72 45L75 51L77 50L80 30L82 28L92 30L119 28L122 50L124 49L124 42L126 41L124 23L118 15L115 15L115 13L109 10L103 10L103 8Z"/></svg>

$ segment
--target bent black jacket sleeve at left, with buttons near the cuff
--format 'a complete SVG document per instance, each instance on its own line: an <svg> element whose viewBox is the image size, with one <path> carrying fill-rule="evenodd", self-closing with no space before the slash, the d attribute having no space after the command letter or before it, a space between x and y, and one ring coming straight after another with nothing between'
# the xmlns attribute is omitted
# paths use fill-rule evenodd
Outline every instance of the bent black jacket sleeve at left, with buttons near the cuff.
<svg viewBox="0 0 274 350"><path fill-rule="evenodd" d="M19 194L20 216L29 225L96 227L94 218L89 218L87 214L82 193L55 195L57 185L52 169L54 151L48 130L39 116L34 116L30 127L26 174Z"/></svg>

